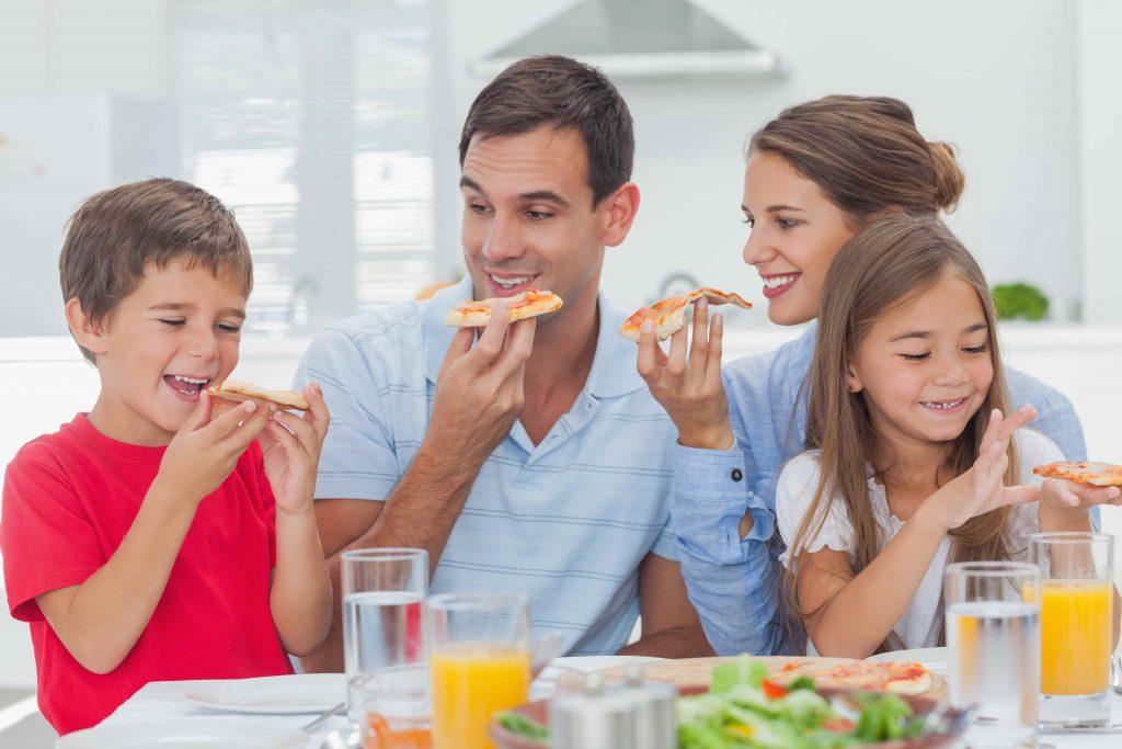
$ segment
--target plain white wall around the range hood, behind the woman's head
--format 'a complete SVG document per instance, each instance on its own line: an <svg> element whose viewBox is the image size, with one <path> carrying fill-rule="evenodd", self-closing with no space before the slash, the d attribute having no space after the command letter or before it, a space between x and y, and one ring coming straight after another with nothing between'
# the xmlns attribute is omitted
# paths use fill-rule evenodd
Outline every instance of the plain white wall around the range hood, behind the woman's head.
<svg viewBox="0 0 1122 749"><path fill-rule="evenodd" d="M606 284L617 296L641 301L688 268L760 299L739 257L745 136L784 106L845 92L902 98L929 139L956 144L967 190L951 226L994 282L1031 280L1059 319L1070 317L1082 275L1074 3L695 2L778 52L789 74L620 84L636 121L643 203L627 243L609 254ZM452 0L454 57L486 54L569 4ZM482 83L461 67L461 118Z"/></svg>

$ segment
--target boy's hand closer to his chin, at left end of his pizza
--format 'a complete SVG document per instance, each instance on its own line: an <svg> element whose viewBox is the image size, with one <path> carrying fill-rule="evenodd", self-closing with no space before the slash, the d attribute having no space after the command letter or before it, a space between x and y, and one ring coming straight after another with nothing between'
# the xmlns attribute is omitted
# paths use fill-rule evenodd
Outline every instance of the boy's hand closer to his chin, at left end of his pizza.
<svg viewBox="0 0 1122 749"><path fill-rule="evenodd" d="M276 407L240 403L211 420L211 396L204 389L199 405L167 446L154 484L201 502L238 465L238 458L265 429Z"/></svg>

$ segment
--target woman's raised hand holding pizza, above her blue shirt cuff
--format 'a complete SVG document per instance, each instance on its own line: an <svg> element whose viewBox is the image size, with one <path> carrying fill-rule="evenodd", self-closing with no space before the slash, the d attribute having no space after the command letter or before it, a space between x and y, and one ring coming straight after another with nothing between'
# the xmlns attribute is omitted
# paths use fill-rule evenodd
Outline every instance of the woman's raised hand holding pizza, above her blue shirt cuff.
<svg viewBox="0 0 1122 749"><path fill-rule="evenodd" d="M654 323L640 329L638 373L678 427L678 441L686 447L727 450L734 444L728 421L728 399L720 381L723 321L709 325L705 298L693 304L692 341L687 326L670 338L668 355L655 340ZM687 348L689 355L687 356Z"/></svg>

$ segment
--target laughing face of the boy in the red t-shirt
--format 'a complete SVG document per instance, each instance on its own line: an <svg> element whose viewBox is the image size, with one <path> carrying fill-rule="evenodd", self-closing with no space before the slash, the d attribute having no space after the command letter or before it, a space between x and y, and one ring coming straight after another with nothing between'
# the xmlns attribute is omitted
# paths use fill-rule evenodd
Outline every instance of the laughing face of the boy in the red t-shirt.
<svg viewBox="0 0 1122 749"><path fill-rule="evenodd" d="M91 422L123 442L166 445L200 391L238 364L245 319L234 274L215 276L187 258L149 264L136 290L80 341L96 356L101 376Z"/></svg>

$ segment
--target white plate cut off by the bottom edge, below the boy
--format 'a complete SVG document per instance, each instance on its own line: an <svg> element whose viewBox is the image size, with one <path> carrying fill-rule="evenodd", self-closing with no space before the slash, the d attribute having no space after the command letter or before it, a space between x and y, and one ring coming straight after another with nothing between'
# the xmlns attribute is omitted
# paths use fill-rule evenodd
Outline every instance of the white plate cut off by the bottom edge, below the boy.
<svg viewBox="0 0 1122 749"><path fill-rule="evenodd" d="M55 749L300 749L309 737L246 718L176 718L123 725L95 725L59 737Z"/></svg>

